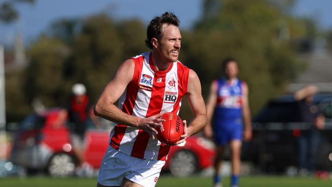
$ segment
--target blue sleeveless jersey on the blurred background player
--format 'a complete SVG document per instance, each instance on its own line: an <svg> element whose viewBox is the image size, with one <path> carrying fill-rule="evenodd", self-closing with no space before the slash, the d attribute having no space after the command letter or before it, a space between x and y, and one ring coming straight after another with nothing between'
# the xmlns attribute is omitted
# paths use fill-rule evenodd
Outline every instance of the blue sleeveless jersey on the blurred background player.
<svg viewBox="0 0 332 187"><path fill-rule="evenodd" d="M214 112L214 126L242 124L242 81L218 79L217 104Z"/></svg>

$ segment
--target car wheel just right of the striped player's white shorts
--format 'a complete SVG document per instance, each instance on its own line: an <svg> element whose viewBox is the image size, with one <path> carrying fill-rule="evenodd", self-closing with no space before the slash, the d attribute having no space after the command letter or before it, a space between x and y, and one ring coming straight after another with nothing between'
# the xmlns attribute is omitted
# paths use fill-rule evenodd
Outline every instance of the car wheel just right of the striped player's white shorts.
<svg viewBox="0 0 332 187"><path fill-rule="evenodd" d="M198 169L197 156L188 150L176 152L170 161L170 171L176 177L192 175Z"/></svg>

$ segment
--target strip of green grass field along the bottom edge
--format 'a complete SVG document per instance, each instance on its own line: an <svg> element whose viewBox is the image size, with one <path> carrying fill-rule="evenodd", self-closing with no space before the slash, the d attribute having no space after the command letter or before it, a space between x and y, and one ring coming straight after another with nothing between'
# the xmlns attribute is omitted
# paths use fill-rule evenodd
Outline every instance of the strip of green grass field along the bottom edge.
<svg viewBox="0 0 332 187"><path fill-rule="evenodd" d="M50 177L27 177L27 178L0 178L1 187L66 187L66 186L96 186L96 178L50 178ZM229 186L228 177L224 179L225 187ZM188 187L203 187L212 186L212 181L209 177L188 177L175 178L171 176L161 176L156 185L157 187L168 186L188 186ZM300 177L279 177L279 176L252 176L242 177L240 180L241 187L327 187L332 186L332 180L318 180L316 178L300 178Z"/></svg>

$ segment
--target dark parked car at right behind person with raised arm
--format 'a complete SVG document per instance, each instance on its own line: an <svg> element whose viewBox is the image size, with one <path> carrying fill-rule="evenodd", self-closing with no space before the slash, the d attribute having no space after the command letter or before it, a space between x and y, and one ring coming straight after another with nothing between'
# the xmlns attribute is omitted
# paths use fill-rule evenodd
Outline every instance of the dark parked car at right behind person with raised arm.
<svg viewBox="0 0 332 187"><path fill-rule="evenodd" d="M314 102L325 115L317 169L332 171L332 93L319 93ZM309 124L299 120L298 103L292 95L271 100L252 120L253 139L248 156L266 173L284 173L298 167L298 140Z"/></svg>

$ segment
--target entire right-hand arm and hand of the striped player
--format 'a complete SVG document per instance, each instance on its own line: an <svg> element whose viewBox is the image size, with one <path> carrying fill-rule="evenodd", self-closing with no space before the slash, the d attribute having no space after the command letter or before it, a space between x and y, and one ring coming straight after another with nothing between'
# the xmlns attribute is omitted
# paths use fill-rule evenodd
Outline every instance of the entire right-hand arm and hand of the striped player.
<svg viewBox="0 0 332 187"><path fill-rule="evenodd" d="M184 120L184 134L181 136L181 140L176 144L184 142L187 137L199 132L206 124L206 110L201 90L201 83L197 74L192 69L189 69L188 90L186 96L189 106L194 113L194 119L188 127L186 127L186 122Z"/></svg>

